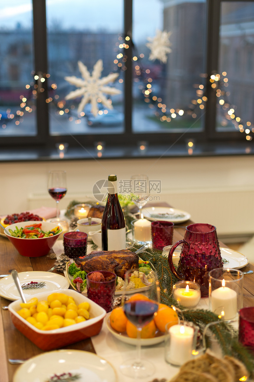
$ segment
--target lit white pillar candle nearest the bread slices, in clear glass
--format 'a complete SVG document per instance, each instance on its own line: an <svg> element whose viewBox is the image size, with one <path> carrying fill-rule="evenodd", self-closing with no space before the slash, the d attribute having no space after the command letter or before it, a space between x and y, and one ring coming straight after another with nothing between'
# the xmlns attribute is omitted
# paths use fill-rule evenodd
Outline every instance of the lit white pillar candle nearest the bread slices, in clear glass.
<svg viewBox="0 0 254 382"><path fill-rule="evenodd" d="M166 358L173 365L189 361L192 356L194 329L187 325L173 325L169 328L170 346Z"/></svg>

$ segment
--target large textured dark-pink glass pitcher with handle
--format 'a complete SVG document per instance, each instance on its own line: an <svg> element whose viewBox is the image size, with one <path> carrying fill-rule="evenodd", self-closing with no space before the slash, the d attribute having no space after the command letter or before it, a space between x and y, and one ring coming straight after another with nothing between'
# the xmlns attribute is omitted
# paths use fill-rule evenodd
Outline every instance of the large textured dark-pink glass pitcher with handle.
<svg viewBox="0 0 254 382"><path fill-rule="evenodd" d="M176 270L172 256L179 244L183 246ZM169 251L168 264L179 280L195 281L200 285L201 297L207 297L209 271L223 267L216 227L205 223L188 225L184 240L177 241Z"/></svg>

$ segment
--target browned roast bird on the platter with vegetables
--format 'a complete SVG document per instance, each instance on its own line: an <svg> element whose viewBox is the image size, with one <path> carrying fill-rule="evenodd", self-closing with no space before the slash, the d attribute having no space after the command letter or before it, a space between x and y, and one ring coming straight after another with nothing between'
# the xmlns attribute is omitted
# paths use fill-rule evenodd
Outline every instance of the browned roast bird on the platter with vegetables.
<svg viewBox="0 0 254 382"><path fill-rule="evenodd" d="M117 276L124 278L128 269L139 266L139 257L128 249L120 251L92 251L83 259L75 259L75 263L86 273L93 270L109 270Z"/></svg>

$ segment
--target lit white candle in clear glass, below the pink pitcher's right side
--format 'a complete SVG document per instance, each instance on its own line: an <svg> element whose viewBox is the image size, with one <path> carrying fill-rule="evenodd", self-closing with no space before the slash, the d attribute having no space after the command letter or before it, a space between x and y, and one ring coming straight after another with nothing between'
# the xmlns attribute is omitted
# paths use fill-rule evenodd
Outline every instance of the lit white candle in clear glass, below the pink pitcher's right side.
<svg viewBox="0 0 254 382"><path fill-rule="evenodd" d="M222 318L231 320L237 314L237 294L233 289L225 286L225 280L222 280L222 286L214 289L211 293L211 304L213 312L224 312Z"/></svg>

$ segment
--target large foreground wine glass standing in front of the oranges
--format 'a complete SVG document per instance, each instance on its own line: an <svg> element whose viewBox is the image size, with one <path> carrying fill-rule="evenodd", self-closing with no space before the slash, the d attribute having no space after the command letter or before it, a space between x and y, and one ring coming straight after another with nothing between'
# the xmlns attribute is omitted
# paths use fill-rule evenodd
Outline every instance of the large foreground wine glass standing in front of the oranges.
<svg viewBox="0 0 254 382"><path fill-rule="evenodd" d="M139 269L128 270L125 274L125 286L121 299L121 304L126 317L137 328L136 341L136 357L127 359L120 365L121 372L128 377L139 379L150 377L155 372L155 366L149 360L141 360L141 331L142 328L152 321L157 314L158 304L160 302L160 287L158 284L157 275L151 270L148 275L139 272ZM141 293L131 295L130 301L127 299L126 292L128 291L129 282L132 277L142 277L142 282L147 285L147 290Z"/></svg>

